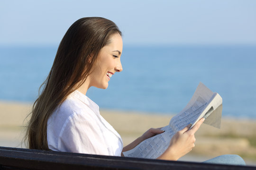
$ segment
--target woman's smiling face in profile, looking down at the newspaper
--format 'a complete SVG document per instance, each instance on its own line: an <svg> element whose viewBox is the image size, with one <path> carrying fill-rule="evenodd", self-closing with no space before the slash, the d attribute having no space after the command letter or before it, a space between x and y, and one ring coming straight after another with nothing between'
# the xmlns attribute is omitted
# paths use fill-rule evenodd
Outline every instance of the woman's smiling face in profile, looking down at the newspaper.
<svg viewBox="0 0 256 170"><path fill-rule="evenodd" d="M123 41L120 34L110 36L110 43L99 52L98 58L92 68L89 78L89 87L106 89L111 76L123 70L120 57L123 50Z"/></svg>

